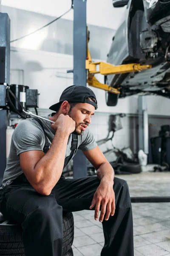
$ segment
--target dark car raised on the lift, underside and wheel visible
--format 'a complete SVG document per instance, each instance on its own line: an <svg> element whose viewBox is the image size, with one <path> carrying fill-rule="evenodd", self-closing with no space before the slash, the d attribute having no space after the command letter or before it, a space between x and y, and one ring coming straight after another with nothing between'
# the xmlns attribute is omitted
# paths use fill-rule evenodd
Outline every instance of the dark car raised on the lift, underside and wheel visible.
<svg viewBox="0 0 170 256"><path fill-rule="evenodd" d="M107 105L116 106L119 98L134 94L170 98L170 0L113 0L113 6L126 9L107 62L152 68L105 76L105 84L120 90L119 95L106 92Z"/></svg>

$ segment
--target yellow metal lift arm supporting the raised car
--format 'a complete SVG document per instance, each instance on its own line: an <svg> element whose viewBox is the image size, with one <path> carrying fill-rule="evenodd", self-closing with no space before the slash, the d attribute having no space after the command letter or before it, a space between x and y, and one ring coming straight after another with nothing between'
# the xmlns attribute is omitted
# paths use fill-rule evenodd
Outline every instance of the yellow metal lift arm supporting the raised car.
<svg viewBox="0 0 170 256"><path fill-rule="evenodd" d="M88 45L88 44L87 44ZM105 63L102 61L92 62L91 54L87 47L87 59L85 63L85 67L88 70L88 85L109 91L111 93L120 94L119 88L113 88L107 84L101 84L95 77L95 74L102 75L113 75L113 74L121 74L121 73L131 73L131 72L140 72L141 70L146 70L152 68L151 65L141 65L139 63L131 63L124 64L119 66L114 66L109 63Z"/></svg>

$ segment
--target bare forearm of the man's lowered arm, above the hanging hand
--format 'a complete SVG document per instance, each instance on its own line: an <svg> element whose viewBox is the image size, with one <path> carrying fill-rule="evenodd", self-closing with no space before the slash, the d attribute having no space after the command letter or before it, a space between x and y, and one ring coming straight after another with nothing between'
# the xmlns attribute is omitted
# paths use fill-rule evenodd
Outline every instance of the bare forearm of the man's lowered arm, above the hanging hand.
<svg viewBox="0 0 170 256"><path fill-rule="evenodd" d="M100 180L108 180L113 182L114 180L114 170L110 163L102 163L97 170L97 176Z"/></svg>

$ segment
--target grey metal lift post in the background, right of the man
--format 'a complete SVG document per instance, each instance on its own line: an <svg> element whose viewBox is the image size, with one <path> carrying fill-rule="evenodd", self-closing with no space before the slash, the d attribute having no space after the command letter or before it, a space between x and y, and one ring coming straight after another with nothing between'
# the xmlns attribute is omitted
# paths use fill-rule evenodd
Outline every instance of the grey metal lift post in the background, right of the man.
<svg viewBox="0 0 170 256"><path fill-rule="evenodd" d="M138 97L138 115L139 115L139 150L142 149L145 154L149 153L149 131L146 96Z"/></svg>

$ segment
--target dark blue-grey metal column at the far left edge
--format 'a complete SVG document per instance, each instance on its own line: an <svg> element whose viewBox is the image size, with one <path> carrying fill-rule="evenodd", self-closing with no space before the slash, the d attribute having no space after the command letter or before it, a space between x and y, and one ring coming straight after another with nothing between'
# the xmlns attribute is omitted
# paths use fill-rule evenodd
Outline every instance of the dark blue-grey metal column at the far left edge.
<svg viewBox="0 0 170 256"><path fill-rule="evenodd" d="M10 75L10 19L0 13L0 181L6 168L6 86Z"/></svg>

